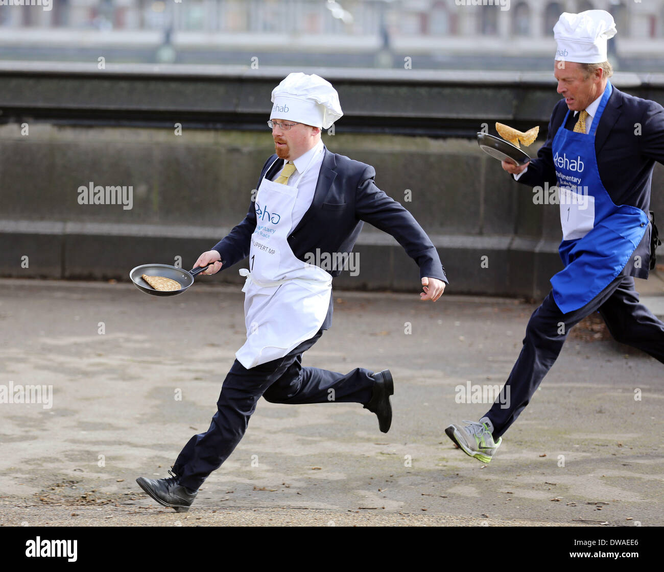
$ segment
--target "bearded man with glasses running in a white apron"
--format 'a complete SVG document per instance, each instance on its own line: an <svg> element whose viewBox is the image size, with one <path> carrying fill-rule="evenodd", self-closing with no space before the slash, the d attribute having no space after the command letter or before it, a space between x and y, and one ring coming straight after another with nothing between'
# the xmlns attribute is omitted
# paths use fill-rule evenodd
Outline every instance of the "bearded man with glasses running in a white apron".
<svg viewBox="0 0 664 572"><path fill-rule="evenodd" d="M242 291L246 342L236 352L210 428L194 435L170 478L137 478L153 499L189 510L199 486L242 439L261 396L272 403L362 403L386 433L392 421L389 370L347 374L303 368L302 353L331 325L332 277L363 221L388 232L420 268L422 300L436 301L447 279L436 248L412 215L374 184L374 169L330 153L321 141L342 115L337 91L316 75L290 74L272 92L268 125L276 155L265 163L258 194L244 220L196 266L213 274L248 256ZM315 253L330 256L315 256ZM346 257L346 258L345 258Z"/></svg>

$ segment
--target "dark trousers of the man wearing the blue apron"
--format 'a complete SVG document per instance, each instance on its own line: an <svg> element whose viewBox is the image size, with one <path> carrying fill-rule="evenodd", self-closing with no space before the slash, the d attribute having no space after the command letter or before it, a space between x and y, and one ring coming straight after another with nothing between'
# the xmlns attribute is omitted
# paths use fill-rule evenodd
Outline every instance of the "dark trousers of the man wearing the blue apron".
<svg viewBox="0 0 664 572"><path fill-rule="evenodd" d="M600 312L618 342L639 348L664 363L664 324L639 304L633 278L618 276L584 307L567 314L560 312L552 293L548 293L533 312L519 359L501 395L486 414L493 423L495 439L507 431L528 405L558 358L570 328L595 311ZM509 393L505 389L508 387Z"/></svg>

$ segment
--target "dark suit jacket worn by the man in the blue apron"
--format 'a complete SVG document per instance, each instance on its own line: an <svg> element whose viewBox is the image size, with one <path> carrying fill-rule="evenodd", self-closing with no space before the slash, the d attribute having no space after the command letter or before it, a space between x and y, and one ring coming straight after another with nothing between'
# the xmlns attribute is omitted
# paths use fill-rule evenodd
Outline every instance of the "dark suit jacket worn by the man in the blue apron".
<svg viewBox="0 0 664 572"><path fill-rule="evenodd" d="M565 113L565 100L560 100L553 108L546 142L519 182L529 186L544 186L544 182L550 186L556 184L551 145ZM568 124L563 128L574 129L576 119L573 115L570 112ZM648 214L655 161L664 164L664 107L625 94L613 86L595 133L595 154L600 179L614 204L635 206ZM627 264L625 274L648 277L651 232L650 224ZM636 255L641 257L640 268L634 267Z"/></svg>

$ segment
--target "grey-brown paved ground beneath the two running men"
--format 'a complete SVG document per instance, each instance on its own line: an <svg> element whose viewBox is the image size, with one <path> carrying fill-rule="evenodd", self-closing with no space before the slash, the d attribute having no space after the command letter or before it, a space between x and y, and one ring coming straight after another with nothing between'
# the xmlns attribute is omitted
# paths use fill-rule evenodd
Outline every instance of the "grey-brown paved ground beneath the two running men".
<svg viewBox="0 0 664 572"><path fill-rule="evenodd" d="M359 404L261 401L234 454L176 514L135 478L167 476L207 429L244 338L239 289L0 286L0 390L53 392L50 408L0 403L3 526L664 524L664 367L592 329L568 341L491 465L444 435L486 411L457 403L456 386L504 382L531 305L336 292L333 328L304 364L390 368L390 432Z"/></svg>

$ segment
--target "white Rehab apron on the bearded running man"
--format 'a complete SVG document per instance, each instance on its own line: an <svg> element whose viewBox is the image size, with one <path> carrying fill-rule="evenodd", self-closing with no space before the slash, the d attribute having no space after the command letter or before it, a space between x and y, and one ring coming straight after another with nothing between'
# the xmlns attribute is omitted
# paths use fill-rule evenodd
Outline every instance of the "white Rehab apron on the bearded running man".
<svg viewBox="0 0 664 572"><path fill-rule="evenodd" d="M246 276L242 291L247 340L235 357L247 369L283 358L313 337L327 316L331 275L297 259L288 245L296 198L297 186L264 178L258 187L249 269L240 269Z"/></svg>

